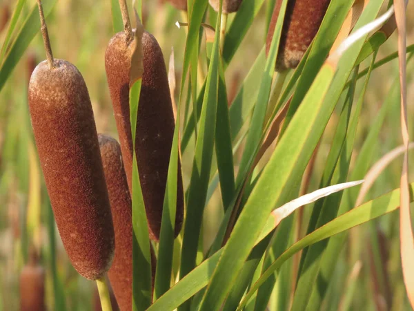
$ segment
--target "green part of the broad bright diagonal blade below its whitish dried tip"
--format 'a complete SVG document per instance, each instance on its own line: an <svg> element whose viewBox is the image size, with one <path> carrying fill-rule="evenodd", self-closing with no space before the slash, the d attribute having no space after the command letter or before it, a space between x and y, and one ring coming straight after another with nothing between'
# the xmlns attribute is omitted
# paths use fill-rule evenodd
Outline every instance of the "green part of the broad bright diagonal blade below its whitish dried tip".
<svg viewBox="0 0 414 311"><path fill-rule="evenodd" d="M284 12L286 1L282 8ZM221 306L270 211L281 199L284 189L291 188L290 176L295 176L305 169L331 115L328 109L321 109L321 104L333 74L334 70L330 65L322 68L302 103L302 109L299 109L300 113L298 111L297 117L293 119L295 122L289 127L289 133L286 132L284 138L279 141L224 247L224 253L215 268L201 310L217 310Z"/></svg>

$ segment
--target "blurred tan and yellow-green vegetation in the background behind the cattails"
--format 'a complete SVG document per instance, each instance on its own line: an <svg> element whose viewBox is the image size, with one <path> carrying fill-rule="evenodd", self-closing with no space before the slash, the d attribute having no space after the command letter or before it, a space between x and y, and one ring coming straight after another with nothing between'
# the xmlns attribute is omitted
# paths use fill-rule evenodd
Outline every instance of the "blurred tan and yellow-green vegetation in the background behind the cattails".
<svg viewBox="0 0 414 311"><path fill-rule="evenodd" d="M170 3L163 0L143 0L143 2L144 26L159 41L164 52L166 66L168 66L170 59L171 48L174 48L175 75L177 85L179 85L186 30L182 27L177 28L175 22L186 21L186 17L183 12L176 10ZM229 103L264 45L267 32L266 19L268 18L266 16L266 2L226 70ZM0 0L1 44L4 41L10 16L16 3L17 0ZM23 6L23 14L17 22L17 29L23 24L34 4L34 0L26 1ZM407 12L407 42L409 45L414 43L413 1L408 5ZM233 19L232 15L229 16L228 23L231 23L231 19ZM75 64L86 81L98 132L109 133L117 138L104 66L106 46L113 35L110 1L59 0L47 22L54 56ZM396 42L394 34L380 48L377 59L395 52L397 50ZM205 45L202 44L201 68L204 73L207 70L205 55ZM41 35L38 34L17 67L14 68L14 72L0 93L0 311L19 310L19 277L23 266L29 261L30 245L41 248L39 265L43 267L46 275L48 310L57 310L58 308L54 298L57 295L56 288L61 289L60 294L64 297L67 310L95 310L94 305L97 303L95 283L83 279L75 272L59 240L32 138L27 103L28 80L34 67L43 59L45 59L43 41ZM367 62L370 62L370 59L361 65L362 69L366 67ZM413 62L408 63L408 116L410 124L413 124L411 115L414 113L413 68ZM402 144L400 138L400 95L398 90L390 93L397 77L397 59L373 72L359 122L354 158L366 138L371 121L377 115L386 98L393 100L394 104L386 116L373 162ZM358 84L359 88L362 87L360 84ZM357 90L356 94L358 93ZM178 97L177 90L175 95ZM317 189L336 124L337 112L331 117L331 122L328 124L320 145L309 191ZM410 130L411 137L414 137L413 126ZM191 148L188 148L188 152L183 155L185 186L188 185L190 179L192 152ZM414 156L411 156L410 160L413 163ZM237 160L235 160L235 164L237 165ZM399 187L400 170L401 160L393 161L375 182L367 199ZM305 218L309 212L309 210L305 211ZM205 248L208 248L215 236L221 216L221 199L215 194L205 212ZM378 310L378 305L381 305L381 303L365 304L367 295L375 292L375 287L382 283L381 280L375 279L376 274L372 271L373 256L370 255L370 249L372 248L371 236L373 234L381 236L382 267L388 277L384 284L393 288L391 290L393 305L398 308L398 305L402 305L406 299L400 267L397 217L397 213L384 216L375 220L374 226L362 225L353 229L349 235L349 243L344 248L345 255L339 258L345 261L346 258L351 257L362 258L359 262L361 265L358 276L360 281L357 283L359 290L355 290L355 296L353 296L353 310ZM373 228L375 229L373 230ZM300 230L302 234L306 232L306 228ZM351 259L350 262L353 262ZM337 288L330 290L339 294L332 294L331 297L341 299L341 286L346 283L346 279L349 277L348 268L346 262L337 265ZM375 301L375 299L368 300Z"/></svg>

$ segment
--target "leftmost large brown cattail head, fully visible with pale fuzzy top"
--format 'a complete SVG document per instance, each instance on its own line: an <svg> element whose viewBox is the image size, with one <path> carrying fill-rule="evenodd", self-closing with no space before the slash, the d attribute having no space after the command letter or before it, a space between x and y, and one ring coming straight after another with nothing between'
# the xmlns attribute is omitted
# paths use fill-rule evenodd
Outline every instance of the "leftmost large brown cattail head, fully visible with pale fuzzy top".
<svg viewBox="0 0 414 311"><path fill-rule="evenodd" d="M88 89L69 62L41 62L30 79L34 138L59 234L86 279L109 270L115 248L112 216Z"/></svg>

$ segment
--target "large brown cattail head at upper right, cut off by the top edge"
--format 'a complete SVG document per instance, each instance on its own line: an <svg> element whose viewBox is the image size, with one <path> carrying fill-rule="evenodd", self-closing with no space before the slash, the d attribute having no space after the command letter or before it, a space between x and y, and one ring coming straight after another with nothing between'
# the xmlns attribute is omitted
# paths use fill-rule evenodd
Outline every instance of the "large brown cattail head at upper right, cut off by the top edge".
<svg viewBox="0 0 414 311"><path fill-rule="evenodd" d="M277 54L276 71L296 68L321 26L331 0L289 0ZM282 0L277 0L266 39L266 53L275 32Z"/></svg>

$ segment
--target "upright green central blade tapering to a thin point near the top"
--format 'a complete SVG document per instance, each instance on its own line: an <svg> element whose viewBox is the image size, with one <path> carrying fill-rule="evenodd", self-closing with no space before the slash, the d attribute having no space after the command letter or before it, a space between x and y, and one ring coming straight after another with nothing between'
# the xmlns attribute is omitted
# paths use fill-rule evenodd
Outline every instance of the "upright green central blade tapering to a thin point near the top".
<svg viewBox="0 0 414 311"><path fill-rule="evenodd" d="M204 93L204 102L201 110L193 171L191 173L190 188L188 190L186 221L184 223L184 238L181 251L180 278L183 278L195 267L204 202L206 201L208 180L210 178L219 84L219 27L218 20L213 55L211 57L210 68L208 68L206 91Z"/></svg>

